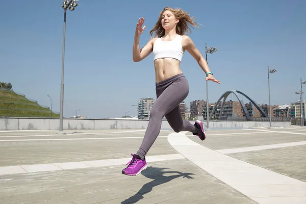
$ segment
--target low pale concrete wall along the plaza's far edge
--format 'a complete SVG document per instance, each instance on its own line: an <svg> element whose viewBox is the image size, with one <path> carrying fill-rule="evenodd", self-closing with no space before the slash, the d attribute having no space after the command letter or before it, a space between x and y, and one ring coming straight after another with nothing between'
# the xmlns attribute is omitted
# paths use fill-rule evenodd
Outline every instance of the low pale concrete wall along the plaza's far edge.
<svg viewBox="0 0 306 204"><path fill-rule="evenodd" d="M147 125L148 120L63 119L63 130L145 129ZM0 118L0 130L59 130L59 126L60 120L52 118ZM210 128L258 126L269 126L269 121L210 121ZM291 122L272 122L272 126L291 126ZM171 129L166 120L162 129Z"/></svg>

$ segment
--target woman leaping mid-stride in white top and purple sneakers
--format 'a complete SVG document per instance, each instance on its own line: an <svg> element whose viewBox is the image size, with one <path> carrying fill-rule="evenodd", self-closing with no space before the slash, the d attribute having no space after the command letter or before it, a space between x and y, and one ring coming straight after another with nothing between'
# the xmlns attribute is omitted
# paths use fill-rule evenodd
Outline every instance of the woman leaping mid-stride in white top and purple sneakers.
<svg viewBox="0 0 306 204"><path fill-rule="evenodd" d="M187 36L190 31L188 24L198 28L197 23L187 12L165 7L154 28L150 31L150 35L154 34L154 38L140 49L139 38L145 29L145 25L142 27L143 22L144 18L142 17L136 26L133 60L139 62L153 52L157 99L152 106L142 144L137 154L132 154L133 158L127 163L128 166L122 170L122 173L126 175L138 175L146 169L145 156L160 133L164 116L174 132L188 131L201 140L206 138L201 121L197 120L193 125L181 117L179 105L189 93L188 81L180 69L185 50L192 55L206 73L207 81L220 84L220 81L213 77L206 60L195 47L191 38Z"/></svg>

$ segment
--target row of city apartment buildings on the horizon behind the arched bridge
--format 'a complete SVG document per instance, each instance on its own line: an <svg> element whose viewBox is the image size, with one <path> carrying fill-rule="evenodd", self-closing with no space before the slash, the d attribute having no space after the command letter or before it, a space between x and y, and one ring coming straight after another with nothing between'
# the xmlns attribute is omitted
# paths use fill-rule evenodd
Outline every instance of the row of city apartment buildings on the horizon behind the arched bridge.
<svg viewBox="0 0 306 204"><path fill-rule="evenodd" d="M150 115L150 109L154 105L155 98L141 98L138 103L138 119L148 119ZM217 104L217 108L221 107L220 101ZM184 100L180 104L181 116L184 119L207 119L206 111L206 100L198 99L190 101L190 106L188 107L186 101ZM250 117L263 117L260 111L254 107L250 102L244 103L246 110ZM134 105L133 105L134 106ZM209 115L211 115L216 103L209 103ZM258 104L258 106L269 116L269 105L268 104ZM302 103L303 107L303 118L305 117L306 101ZM272 116L271 117L300 117L300 101L291 102L289 104L283 105L271 105ZM216 110L212 118L216 119L220 117L220 110ZM222 117L245 117L242 105L238 100L228 99L225 100Z"/></svg>

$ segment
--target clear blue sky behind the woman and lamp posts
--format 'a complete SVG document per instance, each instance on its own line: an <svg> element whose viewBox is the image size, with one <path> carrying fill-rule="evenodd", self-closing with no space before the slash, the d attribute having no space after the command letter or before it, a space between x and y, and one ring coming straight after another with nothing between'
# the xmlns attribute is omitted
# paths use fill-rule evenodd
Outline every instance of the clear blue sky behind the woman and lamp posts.
<svg viewBox="0 0 306 204"><path fill-rule="evenodd" d="M39 104L60 110L63 15L61 1L4 1L0 8L0 81ZM18 2L18 1L17 1ZM134 63L132 46L138 18L149 31L164 7L179 7L202 24L190 35L205 56L205 43L218 48L209 54L210 69L221 84L209 82L209 100L227 90L240 90L257 103L297 101L300 78L306 80L306 1L85 1L67 11L64 117L88 118L137 114L143 97L156 97L152 54ZM188 79L189 102L206 99L205 73L186 52L181 69ZM306 85L304 85L306 91ZM306 95L304 96L306 99Z"/></svg>

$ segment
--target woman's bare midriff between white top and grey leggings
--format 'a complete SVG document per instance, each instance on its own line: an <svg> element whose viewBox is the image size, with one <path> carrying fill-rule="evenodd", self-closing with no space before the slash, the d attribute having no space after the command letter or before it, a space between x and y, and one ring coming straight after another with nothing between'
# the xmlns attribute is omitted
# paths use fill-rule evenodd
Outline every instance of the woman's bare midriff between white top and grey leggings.
<svg viewBox="0 0 306 204"><path fill-rule="evenodd" d="M160 58L154 61L156 82L161 82L183 73L180 69L181 62L173 58Z"/></svg>

